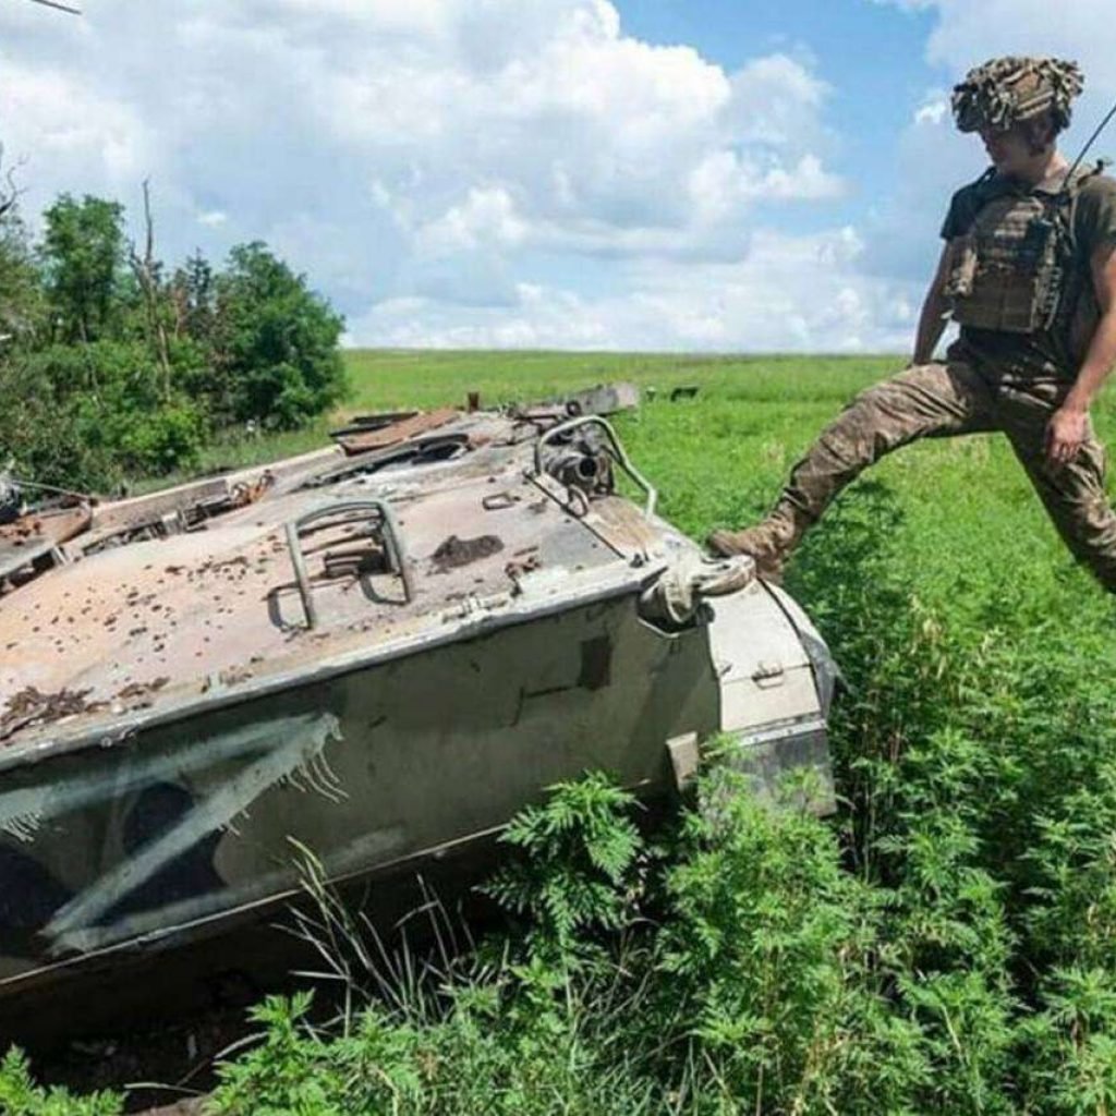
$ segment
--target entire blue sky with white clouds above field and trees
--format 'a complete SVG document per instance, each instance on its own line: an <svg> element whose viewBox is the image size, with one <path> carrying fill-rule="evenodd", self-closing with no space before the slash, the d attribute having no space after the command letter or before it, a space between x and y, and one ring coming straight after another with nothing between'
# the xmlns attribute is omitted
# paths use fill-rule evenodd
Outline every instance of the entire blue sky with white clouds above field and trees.
<svg viewBox="0 0 1116 1116"><path fill-rule="evenodd" d="M983 165L950 85L1078 58L1075 147L1109 8L0 0L0 142L32 222L151 179L169 261L262 239L354 344L902 353Z"/></svg>

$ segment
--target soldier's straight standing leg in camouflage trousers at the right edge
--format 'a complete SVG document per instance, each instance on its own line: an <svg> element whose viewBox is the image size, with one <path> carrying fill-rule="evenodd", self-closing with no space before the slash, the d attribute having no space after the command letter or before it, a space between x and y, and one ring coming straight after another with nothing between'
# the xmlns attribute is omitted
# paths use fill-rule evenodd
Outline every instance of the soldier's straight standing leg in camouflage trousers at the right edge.
<svg viewBox="0 0 1116 1116"><path fill-rule="evenodd" d="M1070 552L1116 593L1116 512L1105 491L1104 446L1090 426L1074 461L1060 468L1047 461L1047 423L1064 395L1064 388L1006 391L1002 429Z"/></svg>

